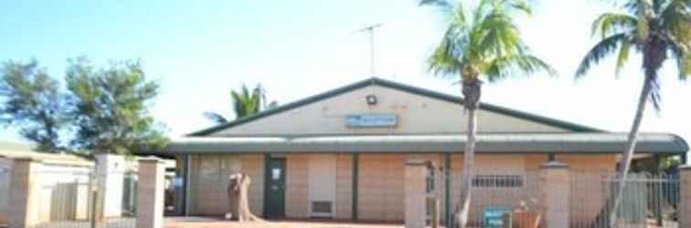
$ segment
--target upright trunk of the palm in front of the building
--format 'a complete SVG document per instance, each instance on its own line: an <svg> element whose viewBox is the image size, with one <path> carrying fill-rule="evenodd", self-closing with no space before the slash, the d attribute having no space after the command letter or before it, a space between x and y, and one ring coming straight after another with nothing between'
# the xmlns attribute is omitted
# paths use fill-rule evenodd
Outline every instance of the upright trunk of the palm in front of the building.
<svg viewBox="0 0 691 228"><path fill-rule="evenodd" d="M468 77L470 78L470 77ZM474 77L473 77L474 78ZM468 130L466 132L465 150L463 151L463 174L461 177L461 200L456 206L456 224L465 228L470 213L471 189L473 187L473 171L475 163L475 135L477 134L477 112L482 94L482 81L469 79L463 81L462 94L465 109L468 114Z"/></svg>

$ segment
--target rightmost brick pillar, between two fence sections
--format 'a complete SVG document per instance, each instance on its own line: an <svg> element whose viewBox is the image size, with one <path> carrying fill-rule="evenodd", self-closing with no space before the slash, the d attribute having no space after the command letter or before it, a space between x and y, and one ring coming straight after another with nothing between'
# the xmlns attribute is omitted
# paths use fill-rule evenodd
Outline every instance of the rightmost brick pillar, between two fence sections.
<svg viewBox="0 0 691 228"><path fill-rule="evenodd" d="M547 161L540 168L546 227L569 227L569 167L559 161Z"/></svg>

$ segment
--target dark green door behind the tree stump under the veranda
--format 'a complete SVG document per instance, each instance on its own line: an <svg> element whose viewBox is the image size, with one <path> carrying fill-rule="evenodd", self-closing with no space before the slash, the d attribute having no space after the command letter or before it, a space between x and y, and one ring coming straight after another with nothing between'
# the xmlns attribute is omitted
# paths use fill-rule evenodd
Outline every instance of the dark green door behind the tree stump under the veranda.
<svg viewBox="0 0 691 228"><path fill-rule="evenodd" d="M285 215L285 158L268 157L264 186L264 216L282 218Z"/></svg>

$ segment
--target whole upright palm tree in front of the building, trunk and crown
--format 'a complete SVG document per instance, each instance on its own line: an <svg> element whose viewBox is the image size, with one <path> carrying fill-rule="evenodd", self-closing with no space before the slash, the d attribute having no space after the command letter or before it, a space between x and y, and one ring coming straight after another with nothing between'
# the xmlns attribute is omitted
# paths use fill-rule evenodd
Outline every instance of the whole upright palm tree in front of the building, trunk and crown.
<svg viewBox="0 0 691 228"><path fill-rule="evenodd" d="M420 5L440 9L448 26L441 43L428 59L430 71L438 76L459 77L463 106L468 116L467 143L464 151L461 201L456 205L456 224L465 227L471 201L476 109L480 106L483 78L494 82L503 78L555 70L529 53L515 23L515 17L531 14L522 0L480 0L466 11L469 1L421 0Z"/></svg>

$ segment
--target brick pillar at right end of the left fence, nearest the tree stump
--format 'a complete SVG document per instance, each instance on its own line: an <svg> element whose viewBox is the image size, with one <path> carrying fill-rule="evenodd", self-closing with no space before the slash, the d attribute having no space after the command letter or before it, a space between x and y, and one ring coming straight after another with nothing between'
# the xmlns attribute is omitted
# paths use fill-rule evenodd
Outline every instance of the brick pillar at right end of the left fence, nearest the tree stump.
<svg viewBox="0 0 691 228"><path fill-rule="evenodd" d="M137 228L162 228L165 167L158 159L139 161L137 184Z"/></svg>

